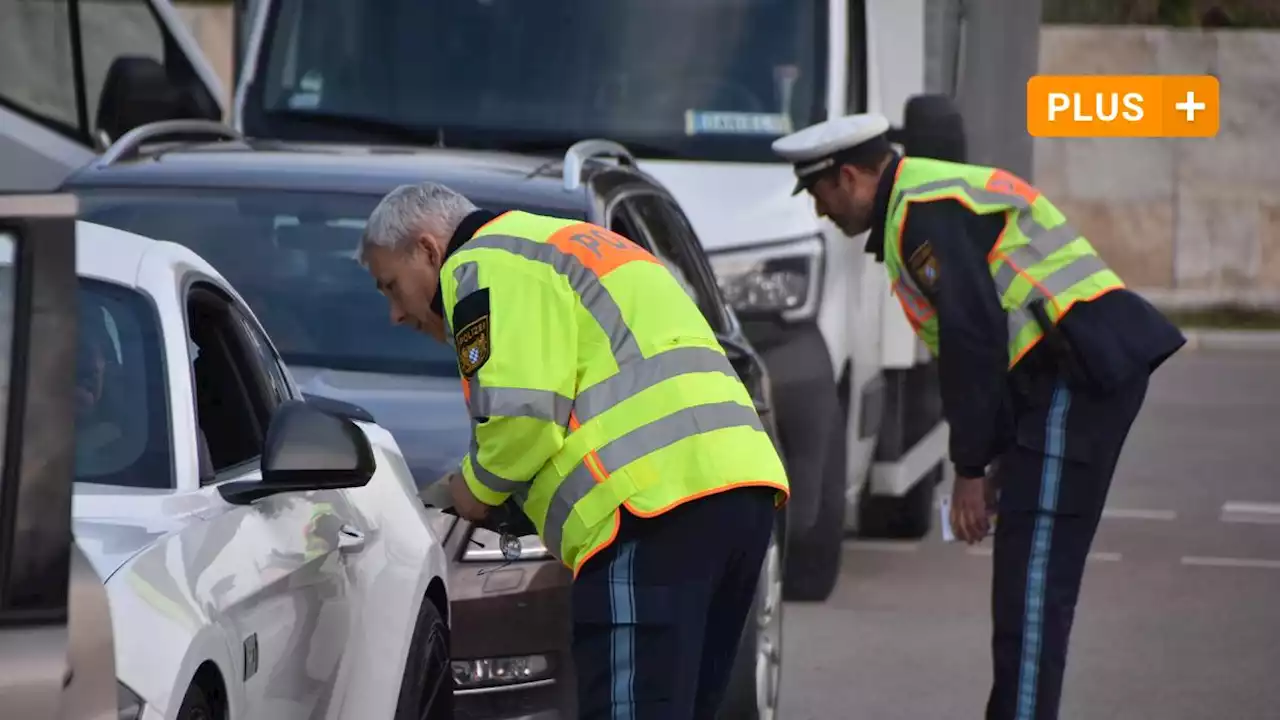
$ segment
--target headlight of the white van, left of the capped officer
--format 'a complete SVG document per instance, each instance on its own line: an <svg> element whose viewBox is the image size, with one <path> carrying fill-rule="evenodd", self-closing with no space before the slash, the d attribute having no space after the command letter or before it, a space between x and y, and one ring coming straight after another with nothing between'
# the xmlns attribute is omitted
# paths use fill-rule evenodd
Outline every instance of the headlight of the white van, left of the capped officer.
<svg viewBox="0 0 1280 720"><path fill-rule="evenodd" d="M806 320L822 299L822 237L709 254L724 300L744 318Z"/></svg>

